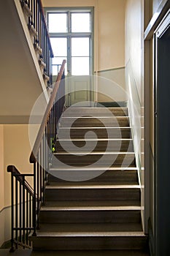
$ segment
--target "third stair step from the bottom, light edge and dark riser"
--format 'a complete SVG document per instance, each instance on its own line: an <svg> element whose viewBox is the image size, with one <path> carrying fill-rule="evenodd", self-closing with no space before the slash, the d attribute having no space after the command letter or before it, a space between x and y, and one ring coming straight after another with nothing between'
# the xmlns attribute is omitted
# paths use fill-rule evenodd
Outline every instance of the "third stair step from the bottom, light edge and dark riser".
<svg viewBox="0 0 170 256"><path fill-rule="evenodd" d="M138 185L47 186L45 200L140 200Z"/></svg>

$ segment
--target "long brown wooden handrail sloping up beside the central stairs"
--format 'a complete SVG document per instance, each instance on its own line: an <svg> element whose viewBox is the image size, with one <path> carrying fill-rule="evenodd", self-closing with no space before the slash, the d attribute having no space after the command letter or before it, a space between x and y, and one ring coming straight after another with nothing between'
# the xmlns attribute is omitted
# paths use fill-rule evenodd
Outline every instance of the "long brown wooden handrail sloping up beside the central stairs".
<svg viewBox="0 0 170 256"><path fill-rule="evenodd" d="M48 102L47 108L45 110L45 115L44 115L44 117L42 119L42 124L39 127L39 132L38 132L38 134L36 136L34 147L33 147L32 151L31 151L31 156L30 156L30 159L29 159L29 162L31 162L31 163L35 163L36 162L36 156L37 156L38 151L39 151L39 146L40 146L40 144L42 142L42 137L43 137L43 135L45 133L45 127L47 125L47 121L48 121L48 118L50 116L50 111L53 108L53 103L55 102L55 97L56 97L56 94L58 92L58 87L59 87L59 85L61 83L61 78L62 78L62 75L63 75L65 64L66 64L66 60L63 60L60 72L58 73L58 77L57 77L57 80L55 82L55 86L53 88L53 92L52 92L51 97L50 97L50 101Z"/></svg>

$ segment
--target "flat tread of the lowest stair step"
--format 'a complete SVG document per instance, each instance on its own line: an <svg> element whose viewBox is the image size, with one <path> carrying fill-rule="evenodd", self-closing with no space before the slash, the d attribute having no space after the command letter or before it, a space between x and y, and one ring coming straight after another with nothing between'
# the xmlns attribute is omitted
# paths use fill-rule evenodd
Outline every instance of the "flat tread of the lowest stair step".
<svg viewBox="0 0 170 256"><path fill-rule="evenodd" d="M140 223L58 223L46 224L40 223L38 233L45 232L142 232Z"/></svg>

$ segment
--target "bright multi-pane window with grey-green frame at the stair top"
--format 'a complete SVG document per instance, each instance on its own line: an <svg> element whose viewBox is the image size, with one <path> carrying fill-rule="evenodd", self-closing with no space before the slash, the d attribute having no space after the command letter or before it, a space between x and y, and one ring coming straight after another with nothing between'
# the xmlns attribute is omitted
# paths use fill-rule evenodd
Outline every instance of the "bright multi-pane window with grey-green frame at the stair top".
<svg viewBox="0 0 170 256"><path fill-rule="evenodd" d="M68 75L90 75L93 52L93 9L47 10L47 24L53 48L53 75L58 64L67 61Z"/></svg>

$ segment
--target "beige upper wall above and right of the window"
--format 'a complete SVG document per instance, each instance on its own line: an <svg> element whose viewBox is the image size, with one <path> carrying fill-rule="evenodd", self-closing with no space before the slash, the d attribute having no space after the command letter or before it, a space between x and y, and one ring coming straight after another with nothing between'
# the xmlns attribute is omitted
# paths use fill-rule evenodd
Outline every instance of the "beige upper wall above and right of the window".
<svg viewBox="0 0 170 256"><path fill-rule="evenodd" d="M98 71L125 66L126 0L43 0L42 2L44 7L95 7L95 69Z"/></svg>

